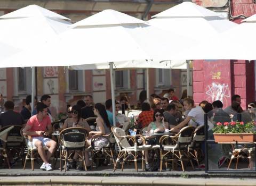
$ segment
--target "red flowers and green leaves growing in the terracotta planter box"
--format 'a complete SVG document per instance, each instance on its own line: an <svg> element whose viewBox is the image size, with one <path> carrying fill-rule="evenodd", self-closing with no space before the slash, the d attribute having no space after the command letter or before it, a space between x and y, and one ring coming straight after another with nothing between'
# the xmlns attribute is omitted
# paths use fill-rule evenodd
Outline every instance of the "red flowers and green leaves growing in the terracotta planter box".
<svg viewBox="0 0 256 186"><path fill-rule="evenodd" d="M238 122L238 121L232 121L232 122L224 122L224 123L217 123L213 130L213 133L254 133L255 134L255 122Z"/></svg>

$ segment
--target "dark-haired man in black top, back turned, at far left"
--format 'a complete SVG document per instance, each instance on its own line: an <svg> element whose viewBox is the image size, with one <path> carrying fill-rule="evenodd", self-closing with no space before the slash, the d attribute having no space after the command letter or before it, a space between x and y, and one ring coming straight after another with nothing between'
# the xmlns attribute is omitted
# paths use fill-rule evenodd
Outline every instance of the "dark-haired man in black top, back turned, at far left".
<svg viewBox="0 0 256 186"><path fill-rule="evenodd" d="M14 103L7 101L4 103L5 113L0 115L0 129L7 125L22 125L25 121L20 113L14 112Z"/></svg>

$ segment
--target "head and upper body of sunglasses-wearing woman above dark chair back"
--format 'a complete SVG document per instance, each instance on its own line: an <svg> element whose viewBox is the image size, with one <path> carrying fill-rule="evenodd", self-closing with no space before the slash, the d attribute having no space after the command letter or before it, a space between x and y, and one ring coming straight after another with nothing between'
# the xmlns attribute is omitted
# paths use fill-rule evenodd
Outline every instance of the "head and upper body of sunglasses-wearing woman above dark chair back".
<svg viewBox="0 0 256 186"><path fill-rule="evenodd" d="M82 127L85 128L88 132L91 131L91 128L87 121L83 120L81 117L81 107L79 105L74 105L71 109L70 118L66 119L63 124L63 129L70 127Z"/></svg>

